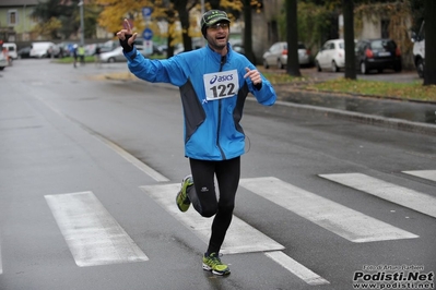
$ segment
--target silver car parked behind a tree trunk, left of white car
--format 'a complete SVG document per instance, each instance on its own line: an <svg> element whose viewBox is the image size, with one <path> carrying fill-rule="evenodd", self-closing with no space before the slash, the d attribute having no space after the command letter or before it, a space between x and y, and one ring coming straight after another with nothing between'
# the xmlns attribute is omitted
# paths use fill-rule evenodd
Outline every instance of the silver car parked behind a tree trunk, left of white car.
<svg viewBox="0 0 436 290"><path fill-rule="evenodd" d="M284 69L287 63L287 43L281 41L273 44L262 57L263 68L276 67ZM299 65L310 64L310 50L303 43L298 43L298 62Z"/></svg>

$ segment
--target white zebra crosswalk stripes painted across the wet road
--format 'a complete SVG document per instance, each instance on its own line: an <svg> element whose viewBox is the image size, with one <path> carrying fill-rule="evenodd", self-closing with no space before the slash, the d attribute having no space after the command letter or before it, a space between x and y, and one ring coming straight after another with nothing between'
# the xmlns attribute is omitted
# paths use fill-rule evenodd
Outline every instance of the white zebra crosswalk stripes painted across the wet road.
<svg viewBox="0 0 436 290"><path fill-rule="evenodd" d="M404 177L409 174L436 181L436 170L403 171L403 173ZM319 174L319 177L436 218L434 195L358 172ZM250 193L353 243L420 238L414 232L322 197L321 193L306 191L274 177L246 178L241 179L239 184ZM207 244L212 219L201 218L193 208L180 213L175 205L175 195L179 186L179 183L157 183L143 185L140 189ZM146 254L92 192L45 195L45 200L78 266L149 261ZM328 280L287 256L283 250L284 246L279 241L235 216L222 252L264 253L308 285L329 283ZM2 271L0 244L0 275Z"/></svg>

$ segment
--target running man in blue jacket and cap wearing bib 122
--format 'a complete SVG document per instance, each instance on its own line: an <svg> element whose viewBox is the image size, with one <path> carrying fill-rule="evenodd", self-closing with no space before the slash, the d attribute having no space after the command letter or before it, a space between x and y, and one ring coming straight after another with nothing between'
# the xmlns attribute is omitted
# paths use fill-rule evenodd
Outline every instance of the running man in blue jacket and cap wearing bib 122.
<svg viewBox="0 0 436 290"><path fill-rule="evenodd" d="M185 117L185 156L191 174L177 193L181 212L190 204L203 217L214 217L203 269L228 275L220 250L231 225L235 195L239 184L240 156L245 153L245 134L239 124L244 102L251 93L258 102L271 106L276 95L246 57L228 44L231 20L224 11L211 10L201 19L201 32L208 40L203 48L179 53L166 60L145 59L137 51L129 23L118 32L129 70L152 83L179 87ZM216 198L214 177L220 196Z"/></svg>

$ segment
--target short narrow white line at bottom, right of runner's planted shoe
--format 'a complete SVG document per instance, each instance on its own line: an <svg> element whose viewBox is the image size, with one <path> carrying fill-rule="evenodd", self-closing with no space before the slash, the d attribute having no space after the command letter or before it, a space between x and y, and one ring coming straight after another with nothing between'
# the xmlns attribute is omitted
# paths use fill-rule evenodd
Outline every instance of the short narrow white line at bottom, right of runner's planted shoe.
<svg viewBox="0 0 436 290"><path fill-rule="evenodd" d="M308 285L316 286L330 283L321 276L306 268L281 251L268 252L264 254Z"/></svg>

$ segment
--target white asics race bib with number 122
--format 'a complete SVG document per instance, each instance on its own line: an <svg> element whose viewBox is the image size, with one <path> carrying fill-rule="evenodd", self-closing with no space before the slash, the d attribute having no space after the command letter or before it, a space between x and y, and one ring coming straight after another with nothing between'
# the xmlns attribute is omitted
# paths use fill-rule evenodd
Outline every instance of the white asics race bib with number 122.
<svg viewBox="0 0 436 290"><path fill-rule="evenodd" d="M236 70L208 73L203 75L203 81L207 100L229 98L239 90L239 80Z"/></svg>

